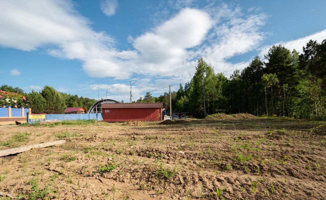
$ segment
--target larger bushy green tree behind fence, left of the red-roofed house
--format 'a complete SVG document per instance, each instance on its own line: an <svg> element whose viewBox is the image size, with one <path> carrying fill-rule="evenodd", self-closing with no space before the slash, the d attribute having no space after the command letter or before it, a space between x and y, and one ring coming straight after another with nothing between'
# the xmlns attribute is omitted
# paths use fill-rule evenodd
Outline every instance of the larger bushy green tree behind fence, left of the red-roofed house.
<svg viewBox="0 0 326 200"><path fill-rule="evenodd" d="M46 100L46 113L60 114L64 113L67 108L65 100L61 94L49 85L45 85L41 92Z"/></svg>

